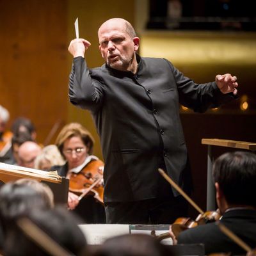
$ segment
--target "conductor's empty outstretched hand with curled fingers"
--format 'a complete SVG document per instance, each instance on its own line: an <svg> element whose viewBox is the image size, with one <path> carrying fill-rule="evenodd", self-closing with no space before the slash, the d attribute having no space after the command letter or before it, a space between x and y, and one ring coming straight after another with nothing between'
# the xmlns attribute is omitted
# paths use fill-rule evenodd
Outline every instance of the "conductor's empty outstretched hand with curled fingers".
<svg viewBox="0 0 256 256"><path fill-rule="evenodd" d="M232 92L234 95L237 94L237 78L230 74L217 75L215 77L216 84L222 93Z"/></svg>

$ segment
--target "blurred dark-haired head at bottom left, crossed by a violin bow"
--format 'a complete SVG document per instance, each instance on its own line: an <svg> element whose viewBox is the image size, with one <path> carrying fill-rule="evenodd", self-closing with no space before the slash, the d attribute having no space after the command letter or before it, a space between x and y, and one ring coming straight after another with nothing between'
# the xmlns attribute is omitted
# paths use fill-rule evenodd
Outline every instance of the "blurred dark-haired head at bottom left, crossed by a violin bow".
<svg viewBox="0 0 256 256"><path fill-rule="evenodd" d="M86 239L77 226L76 217L67 209L56 207L49 211L34 210L28 219L47 236L59 244L68 255L86 255ZM4 255L52 255L44 243L36 244L23 230L17 228L6 239Z"/></svg>

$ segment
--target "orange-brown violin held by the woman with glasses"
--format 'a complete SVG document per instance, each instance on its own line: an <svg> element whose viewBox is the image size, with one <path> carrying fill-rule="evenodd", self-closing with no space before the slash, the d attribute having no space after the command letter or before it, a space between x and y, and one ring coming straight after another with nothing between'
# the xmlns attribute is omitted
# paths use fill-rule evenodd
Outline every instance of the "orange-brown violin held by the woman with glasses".
<svg viewBox="0 0 256 256"><path fill-rule="evenodd" d="M104 163L101 160L93 160L79 173L70 175L69 190L79 195L79 201L86 195L93 195L97 201L104 204L103 169Z"/></svg>

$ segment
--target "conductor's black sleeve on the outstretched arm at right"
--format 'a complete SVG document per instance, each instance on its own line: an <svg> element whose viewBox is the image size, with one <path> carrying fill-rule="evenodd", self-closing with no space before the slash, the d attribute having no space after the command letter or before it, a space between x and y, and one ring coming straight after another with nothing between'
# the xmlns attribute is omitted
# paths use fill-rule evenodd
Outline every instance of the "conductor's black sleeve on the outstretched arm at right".
<svg viewBox="0 0 256 256"><path fill-rule="evenodd" d="M179 102L195 112L202 113L208 108L218 108L221 104L230 102L236 97L233 93L221 93L215 82L196 84L184 76L168 61L179 92Z"/></svg>

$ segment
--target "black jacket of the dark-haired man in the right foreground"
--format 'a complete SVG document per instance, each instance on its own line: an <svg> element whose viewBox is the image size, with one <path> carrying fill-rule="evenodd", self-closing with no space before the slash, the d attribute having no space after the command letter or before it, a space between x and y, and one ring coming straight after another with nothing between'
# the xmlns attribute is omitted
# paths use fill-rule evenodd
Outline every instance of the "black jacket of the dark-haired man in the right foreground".
<svg viewBox="0 0 256 256"><path fill-rule="evenodd" d="M249 209L230 209L223 214L220 223L229 228L246 244L256 246L256 211ZM177 237L179 244L203 243L205 254L231 252L234 255L246 252L229 239L216 223L190 228Z"/></svg>

